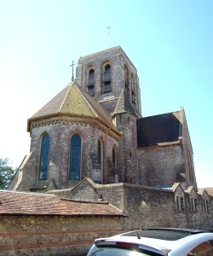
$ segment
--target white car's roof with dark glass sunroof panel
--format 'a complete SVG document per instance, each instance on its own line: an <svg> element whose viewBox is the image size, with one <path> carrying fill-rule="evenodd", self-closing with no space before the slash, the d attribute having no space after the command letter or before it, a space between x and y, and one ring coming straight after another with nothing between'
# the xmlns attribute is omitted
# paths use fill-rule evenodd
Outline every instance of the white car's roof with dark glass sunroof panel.
<svg viewBox="0 0 213 256"><path fill-rule="evenodd" d="M213 233L204 230L149 228L95 241L96 244L97 241L105 241L106 243L107 241L130 242L148 247L150 250L157 249L158 253L167 255L171 250L178 249L180 245L182 250L189 250L188 252L190 252L190 247L196 247L199 243L209 239L213 240Z"/></svg>

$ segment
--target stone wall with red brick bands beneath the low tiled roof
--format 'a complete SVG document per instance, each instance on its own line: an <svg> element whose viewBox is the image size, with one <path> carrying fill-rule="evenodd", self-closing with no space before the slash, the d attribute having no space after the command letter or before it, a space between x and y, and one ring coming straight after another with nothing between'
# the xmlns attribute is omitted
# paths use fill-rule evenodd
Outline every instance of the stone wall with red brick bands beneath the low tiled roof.
<svg viewBox="0 0 213 256"><path fill-rule="evenodd" d="M117 217L0 216L0 255L85 255L95 238L123 231Z"/></svg>

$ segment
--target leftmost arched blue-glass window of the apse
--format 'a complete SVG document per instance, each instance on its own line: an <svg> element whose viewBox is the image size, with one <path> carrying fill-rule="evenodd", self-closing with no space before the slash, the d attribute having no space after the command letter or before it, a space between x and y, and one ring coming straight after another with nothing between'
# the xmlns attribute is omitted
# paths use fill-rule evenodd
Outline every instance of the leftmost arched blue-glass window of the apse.
<svg viewBox="0 0 213 256"><path fill-rule="evenodd" d="M49 134L45 134L42 138L40 165L39 165L39 179L45 180L48 178L49 167Z"/></svg>

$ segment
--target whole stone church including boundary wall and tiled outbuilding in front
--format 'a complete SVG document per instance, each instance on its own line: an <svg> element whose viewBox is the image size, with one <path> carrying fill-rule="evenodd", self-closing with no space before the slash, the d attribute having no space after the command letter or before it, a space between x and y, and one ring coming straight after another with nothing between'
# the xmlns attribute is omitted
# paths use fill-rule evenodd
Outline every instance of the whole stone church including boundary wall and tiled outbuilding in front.
<svg viewBox="0 0 213 256"><path fill-rule="evenodd" d="M85 255L95 238L147 226L213 229L184 109L143 117L141 95L120 46L79 58L75 81L27 120L30 153L0 190L0 255Z"/></svg>

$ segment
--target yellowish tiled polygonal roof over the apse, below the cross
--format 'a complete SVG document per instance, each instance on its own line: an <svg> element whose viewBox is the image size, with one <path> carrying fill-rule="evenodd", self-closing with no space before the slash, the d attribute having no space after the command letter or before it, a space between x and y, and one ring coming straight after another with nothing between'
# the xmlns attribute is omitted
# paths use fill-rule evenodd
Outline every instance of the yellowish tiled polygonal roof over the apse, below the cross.
<svg viewBox="0 0 213 256"><path fill-rule="evenodd" d="M28 119L27 131L30 131L32 120L42 119L58 114L100 119L102 123L117 131L112 119L101 105L75 83L68 84L52 100Z"/></svg>

